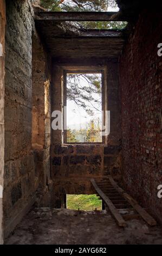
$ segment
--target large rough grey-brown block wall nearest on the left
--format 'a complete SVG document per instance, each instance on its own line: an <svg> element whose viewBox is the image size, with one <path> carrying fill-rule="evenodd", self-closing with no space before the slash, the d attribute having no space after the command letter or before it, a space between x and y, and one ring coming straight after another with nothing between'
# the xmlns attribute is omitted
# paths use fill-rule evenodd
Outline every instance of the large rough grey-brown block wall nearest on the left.
<svg viewBox="0 0 162 256"><path fill-rule="evenodd" d="M4 232L15 227L34 202L31 151L33 1L6 1Z"/></svg>

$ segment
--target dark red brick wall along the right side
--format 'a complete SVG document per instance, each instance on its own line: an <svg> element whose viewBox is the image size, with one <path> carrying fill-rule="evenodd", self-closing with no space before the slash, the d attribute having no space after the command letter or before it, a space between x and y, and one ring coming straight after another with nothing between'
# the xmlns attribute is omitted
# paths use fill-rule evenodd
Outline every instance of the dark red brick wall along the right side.
<svg viewBox="0 0 162 256"><path fill-rule="evenodd" d="M143 11L121 57L122 175L138 202L162 222L161 11Z"/></svg>

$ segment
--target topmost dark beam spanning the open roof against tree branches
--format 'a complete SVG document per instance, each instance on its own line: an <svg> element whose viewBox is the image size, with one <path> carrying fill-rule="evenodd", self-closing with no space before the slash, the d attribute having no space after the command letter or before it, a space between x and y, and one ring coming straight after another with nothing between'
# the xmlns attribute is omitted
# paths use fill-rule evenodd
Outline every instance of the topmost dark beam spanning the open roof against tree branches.
<svg viewBox="0 0 162 256"><path fill-rule="evenodd" d="M120 11L37 11L36 20L50 21L133 21L132 15Z"/></svg>

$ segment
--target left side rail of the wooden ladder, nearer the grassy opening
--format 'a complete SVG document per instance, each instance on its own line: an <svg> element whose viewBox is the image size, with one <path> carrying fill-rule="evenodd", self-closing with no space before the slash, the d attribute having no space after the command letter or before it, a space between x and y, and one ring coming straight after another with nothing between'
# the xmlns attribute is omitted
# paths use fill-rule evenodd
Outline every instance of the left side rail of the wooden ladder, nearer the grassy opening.
<svg viewBox="0 0 162 256"><path fill-rule="evenodd" d="M94 186L96 192L98 192L98 194L100 195L100 197L104 200L104 202L107 204L108 209L111 211L111 214L113 215L113 217L115 218L116 222L118 223L118 225L120 227L126 227L126 222L125 220L122 218L122 216L119 214L118 210L115 208L115 206L113 205L113 203L111 202L111 200L109 200L109 198L100 190L100 188L98 187L98 185L96 184L94 179L90 179L90 181L92 182L92 185Z"/></svg>

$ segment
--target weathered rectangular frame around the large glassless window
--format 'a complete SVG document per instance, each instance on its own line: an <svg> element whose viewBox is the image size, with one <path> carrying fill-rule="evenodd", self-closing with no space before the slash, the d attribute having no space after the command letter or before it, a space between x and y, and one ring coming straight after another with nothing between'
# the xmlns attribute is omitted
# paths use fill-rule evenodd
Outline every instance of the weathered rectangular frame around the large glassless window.
<svg viewBox="0 0 162 256"><path fill-rule="evenodd" d="M105 125L105 70L102 69L84 69L84 70L63 70L63 144L66 145L75 145L75 144L81 144L81 145L89 145L89 144L105 144L105 136L102 136L102 142L67 142L67 130L64 129L67 124L67 74L101 74L101 100L102 100L102 120L103 124ZM66 121L64 118L66 117ZM66 126L67 127L67 126Z"/></svg>

